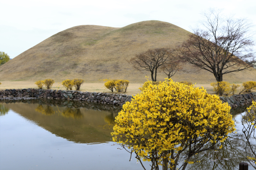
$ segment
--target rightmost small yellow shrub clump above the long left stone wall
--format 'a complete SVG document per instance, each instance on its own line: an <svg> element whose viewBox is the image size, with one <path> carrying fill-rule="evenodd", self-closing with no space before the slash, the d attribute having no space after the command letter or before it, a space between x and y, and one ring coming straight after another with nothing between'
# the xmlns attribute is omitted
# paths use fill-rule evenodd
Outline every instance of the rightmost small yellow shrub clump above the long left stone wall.
<svg viewBox="0 0 256 170"><path fill-rule="evenodd" d="M114 91L114 89L117 91L117 92L124 92L126 93L127 91L127 88L129 86L129 81L128 80L108 80L108 79L105 79L104 81L106 81L104 83L104 86L111 90L112 92Z"/></svg>

